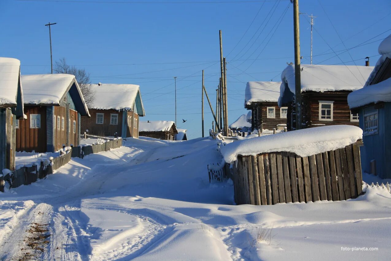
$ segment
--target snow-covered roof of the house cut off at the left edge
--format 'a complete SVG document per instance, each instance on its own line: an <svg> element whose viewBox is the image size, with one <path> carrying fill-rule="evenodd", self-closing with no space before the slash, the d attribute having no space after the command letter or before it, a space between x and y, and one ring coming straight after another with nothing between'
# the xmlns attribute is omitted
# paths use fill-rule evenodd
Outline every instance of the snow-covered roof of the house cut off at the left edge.
<svg viewBox="0 0 391 261"><path fill-rule="evenodd" d="M0 57L0 104L16 104L19 77L20 61Z"/></svg>

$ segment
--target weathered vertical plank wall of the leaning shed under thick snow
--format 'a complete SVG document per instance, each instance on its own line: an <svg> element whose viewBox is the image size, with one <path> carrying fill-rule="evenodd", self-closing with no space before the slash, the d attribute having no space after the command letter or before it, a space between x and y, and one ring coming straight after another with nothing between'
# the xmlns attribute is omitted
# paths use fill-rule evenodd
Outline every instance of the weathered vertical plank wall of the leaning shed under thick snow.
<svg viewBox="0 0 391 261"><path fill-rule="evenodd" d="M272 205L356 198L362 193L359 146L362 140L309 157L287 152L239 155L233 167L235 202Z"/></svg>

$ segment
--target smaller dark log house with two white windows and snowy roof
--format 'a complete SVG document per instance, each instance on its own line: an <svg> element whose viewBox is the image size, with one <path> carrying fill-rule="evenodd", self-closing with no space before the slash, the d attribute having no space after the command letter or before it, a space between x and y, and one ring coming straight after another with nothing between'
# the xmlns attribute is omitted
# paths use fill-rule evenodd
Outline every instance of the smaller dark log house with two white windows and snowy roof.
<svg viewBox="0 0 391 261"><path fill-rule="evenodd" d="M250 81L246 85L244 108L251 110L251 131L273 130L287 122L287 106L278 106L281 82Z"/></svg>

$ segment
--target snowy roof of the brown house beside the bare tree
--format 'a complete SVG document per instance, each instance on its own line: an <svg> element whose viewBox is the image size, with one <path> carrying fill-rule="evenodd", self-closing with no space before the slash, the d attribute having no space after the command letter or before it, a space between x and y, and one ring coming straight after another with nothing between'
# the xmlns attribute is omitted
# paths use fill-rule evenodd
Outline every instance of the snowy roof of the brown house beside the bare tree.
<svg viewBox="0 0 391 261"><path fill-rule="evenodd" d="M95 92L92 109L133 110L135 106L139 116L145 115L139 85L99 83L90 86Z"/></svg>

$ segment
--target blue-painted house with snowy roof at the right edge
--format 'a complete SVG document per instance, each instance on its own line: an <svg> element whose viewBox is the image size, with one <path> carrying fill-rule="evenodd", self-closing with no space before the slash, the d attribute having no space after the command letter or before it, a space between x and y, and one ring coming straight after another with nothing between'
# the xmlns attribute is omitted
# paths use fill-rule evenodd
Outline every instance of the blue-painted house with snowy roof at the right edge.
<svg viewBox="0 0 391 261"><path fill-rule="evenodd" d="M348 95L363 130L362 170L391 178L391 35L380 43L379 58L364 88Z"/></svg>

